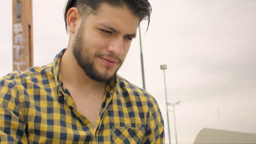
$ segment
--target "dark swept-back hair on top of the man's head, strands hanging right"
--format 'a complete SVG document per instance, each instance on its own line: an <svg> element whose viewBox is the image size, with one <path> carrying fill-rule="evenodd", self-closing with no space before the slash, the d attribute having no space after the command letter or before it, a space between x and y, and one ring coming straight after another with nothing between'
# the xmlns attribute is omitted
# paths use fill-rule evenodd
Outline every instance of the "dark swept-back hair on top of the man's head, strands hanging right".
<svg viewBox="0 0 256 144"><path fill-rule="evenodd" d="M70 8L77 8L79 10L79 13L83 16L86 13L95 14L98 7L100 7L102 3L107 3L109 5L113 5L114 7L122 7L126 5L128 8L130 8L133 14L139 17L139 22L141 22L142 20L148 20L149 27L152 7L148 0L68 0L64 11L66 31L67 12Z"/></svg>

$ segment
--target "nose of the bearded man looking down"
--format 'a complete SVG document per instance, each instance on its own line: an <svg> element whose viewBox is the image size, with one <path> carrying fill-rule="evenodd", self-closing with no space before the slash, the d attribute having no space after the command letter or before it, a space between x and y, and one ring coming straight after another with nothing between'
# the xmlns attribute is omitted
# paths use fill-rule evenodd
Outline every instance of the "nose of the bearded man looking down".
<svg viewBox="0 0 256 144"><path fill-rule="evenodd" d="M112 43L108 46L108 51L115 56L122 56L124 54L123 38L112 40Z"/></svg>

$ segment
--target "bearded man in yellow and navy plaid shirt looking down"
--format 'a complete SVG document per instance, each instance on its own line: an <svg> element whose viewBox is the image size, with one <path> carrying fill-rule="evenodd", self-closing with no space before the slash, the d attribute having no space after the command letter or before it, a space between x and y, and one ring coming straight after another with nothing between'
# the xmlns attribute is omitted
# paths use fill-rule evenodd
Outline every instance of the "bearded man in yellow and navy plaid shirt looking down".
<svg viewBox="0 0 256 144"><path fill-rule="evenodd" d="M155 99L117 71L147 0L69 0L67 49L53 63L0 79L5 143L163 143Z"/></svg>

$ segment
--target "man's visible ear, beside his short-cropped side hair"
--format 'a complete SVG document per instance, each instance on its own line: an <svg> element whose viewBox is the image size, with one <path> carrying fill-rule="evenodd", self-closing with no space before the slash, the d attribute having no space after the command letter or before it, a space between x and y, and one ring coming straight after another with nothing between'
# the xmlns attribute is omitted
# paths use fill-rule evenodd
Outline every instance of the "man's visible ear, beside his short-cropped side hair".
<svg viewBox="0 0 256 144"><path fill-rule="evenodd" d="M70 33L75 33L80 25L81 16L77 8L71 8L67 12L67 29Z"/></svg>

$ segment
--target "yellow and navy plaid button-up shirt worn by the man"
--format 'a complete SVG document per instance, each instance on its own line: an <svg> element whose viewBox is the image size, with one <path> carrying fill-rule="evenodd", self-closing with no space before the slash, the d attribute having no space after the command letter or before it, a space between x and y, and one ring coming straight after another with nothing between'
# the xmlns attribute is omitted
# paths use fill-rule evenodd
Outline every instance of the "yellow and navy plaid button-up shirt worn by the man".
<svg viewBox="0 0 256 144"><path fill-rule="evenodd" d="M117 75L92 124L63 87L60 59L0 79L1 143L164 143L155 99Z"/></svg>

